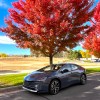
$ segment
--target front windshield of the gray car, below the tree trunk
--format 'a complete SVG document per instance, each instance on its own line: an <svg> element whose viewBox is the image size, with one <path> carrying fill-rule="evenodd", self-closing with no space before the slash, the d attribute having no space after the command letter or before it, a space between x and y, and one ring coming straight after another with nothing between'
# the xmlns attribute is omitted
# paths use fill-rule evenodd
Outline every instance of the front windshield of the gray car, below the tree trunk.
<svg viewBox="0 0 100 100"><path fill-rule="evenodd" d="M56 71L56 70L59 70L62 66L63 64L52 65L52 69L51 69L51 66L49 65L49 66L39 69L38 71Z"/></svg>

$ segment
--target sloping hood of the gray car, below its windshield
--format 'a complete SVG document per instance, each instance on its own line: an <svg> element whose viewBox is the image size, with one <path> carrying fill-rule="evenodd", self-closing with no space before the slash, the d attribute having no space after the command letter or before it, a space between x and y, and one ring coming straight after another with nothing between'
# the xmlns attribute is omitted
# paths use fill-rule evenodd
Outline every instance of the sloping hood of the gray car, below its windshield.
<svg viewBox="0 0 100 100"><path fill-rule="evenodd" d="M52 75L52 71L41 72L41 71L34 71L25 77L26 81L38 81L43 79L44 77L49 77Z"/></svg>

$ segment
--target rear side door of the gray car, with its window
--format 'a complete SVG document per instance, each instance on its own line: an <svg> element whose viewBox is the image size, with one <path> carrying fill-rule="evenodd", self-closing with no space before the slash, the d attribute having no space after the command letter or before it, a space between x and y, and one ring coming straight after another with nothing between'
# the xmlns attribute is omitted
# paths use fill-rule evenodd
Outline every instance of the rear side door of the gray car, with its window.
<svg viewBox="0 0 100 100"><path fill-rule="evenodd" d="M77 83L80 80L80 71L78 65L71 64L72 69L72 75L71 78L73 80L73 83Z"/></svg>

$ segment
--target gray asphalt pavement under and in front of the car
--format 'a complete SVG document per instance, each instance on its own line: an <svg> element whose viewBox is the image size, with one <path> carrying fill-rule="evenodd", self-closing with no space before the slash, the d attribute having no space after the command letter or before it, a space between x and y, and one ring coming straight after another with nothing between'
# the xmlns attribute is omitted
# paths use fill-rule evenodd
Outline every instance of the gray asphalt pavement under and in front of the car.
<svg viewBox="0 0 100 100"><path fill-rule="evenodd" d="M100 100L100 73L89 75L86 85L67 87L57 95L36 94L21 89L1 93L0 100Z"/></svg>

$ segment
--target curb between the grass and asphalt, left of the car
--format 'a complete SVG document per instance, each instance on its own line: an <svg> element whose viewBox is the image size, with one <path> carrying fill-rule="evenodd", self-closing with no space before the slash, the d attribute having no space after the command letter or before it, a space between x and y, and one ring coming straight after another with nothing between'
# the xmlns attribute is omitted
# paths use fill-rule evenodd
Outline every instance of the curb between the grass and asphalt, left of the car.
<svg viewBox="0 0 100 100"><path fill-rule="evenodd" d="M21 89L22 89L22 85L12 86L12 87L0 89L0 93L7 93L7 92L17 91L17 90L21 90Z"/></svg>

